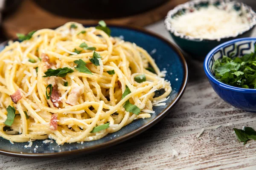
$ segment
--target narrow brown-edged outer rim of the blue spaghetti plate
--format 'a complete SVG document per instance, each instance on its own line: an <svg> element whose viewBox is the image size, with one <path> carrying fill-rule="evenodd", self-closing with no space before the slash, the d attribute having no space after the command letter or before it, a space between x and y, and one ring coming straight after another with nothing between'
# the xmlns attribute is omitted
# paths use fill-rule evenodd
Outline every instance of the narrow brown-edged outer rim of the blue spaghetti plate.
<svg viewBox="0 0 256 170"><path fill-rule="evenodd" d="M84 24L84 26L87 26L87 27L93 26L93 25L94 24ZM166 114L168 113L167 111L169 111L171 108L173 108L175 106L175 104L180 100L181 96L183 95L183 93L186 89L187 82L188 82L188 66L186 63L186 59L184 58L181 51L172 42L170 42L166 38L164 38L158 34L155 34L152 31L145 30L144 28L140 28L140 27L136 27L136 26L116 25L116 24L108 24L108 26L129 29L129 30L138 31L138 32L141 32L144 34L151 35L153 37L156 37L156 38L162 40L163 42L168 44L170 46L170 48L172 48L175 52L177 52L177 54L180 58L180 61L183 65L184 75L183 75L182 86L181 86L180 91L178 92L177 96L175 97L175 99L167 106L167 108L165 108L161 113L159 113L159 115L157 115L154 118L154 120L152 120L151 122L148 122L147 124L139 127L138 129L136 129L124 136L120 136L119 138L113 139L111 141L108 141L108 142L105 142L102 144L95 145L93 147L87 147L84 149L73 150L73 151L64 151L64 152L59 152L59 153L17 153L17 152L9 152L9 151L5 151L5 150L0 150L0 154L7 155L7 156L22 157L22 158L50 158L50 157L56 157L56 156L63 157L63 156L81 155L81 154L96 152L98 150L106 149L108 147L111 147L111 146L114 146L121 142L124 142L128 139L133 138L134 136L139 135L140 133L143 133L145 130L148 130L150 127L152 127L157 122L159 122L161 119L163 119L163 117L166 116ZM0 43L0 45L6 44L8 41L9 40L2 42L2 43Z"/></svg>

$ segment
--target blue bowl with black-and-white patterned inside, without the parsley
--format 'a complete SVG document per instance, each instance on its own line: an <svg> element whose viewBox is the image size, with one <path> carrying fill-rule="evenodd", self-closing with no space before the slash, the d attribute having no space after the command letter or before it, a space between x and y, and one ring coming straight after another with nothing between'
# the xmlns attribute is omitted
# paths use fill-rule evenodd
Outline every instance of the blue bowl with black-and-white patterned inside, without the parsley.
<svg viewBox="0 0 256 170"><path fill-rule="evenodd" d="M250 54L255 49L256 38L240 38L218 45L209 52L204 60L204 71L212 85L214 91L230 105L244 111L256 112L256 89L237 88L226 85L215 78L213 64L223 56L230 56L231 53L236 57Z"/></svg>

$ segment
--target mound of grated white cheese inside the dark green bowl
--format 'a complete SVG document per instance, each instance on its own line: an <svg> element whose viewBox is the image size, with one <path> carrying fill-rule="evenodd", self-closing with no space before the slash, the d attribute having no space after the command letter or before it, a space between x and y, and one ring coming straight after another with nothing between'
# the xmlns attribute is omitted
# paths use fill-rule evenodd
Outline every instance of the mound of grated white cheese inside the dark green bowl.
<svg viewBox="0 0 256 170"><path fill-rule="evenodd" d="M233 4L228 4L225 10L210 5L186 12L170 19L170 23L178 33L200 39L236 36L250 28L246 14L240 16L240 12L233 9Z"/></svg>

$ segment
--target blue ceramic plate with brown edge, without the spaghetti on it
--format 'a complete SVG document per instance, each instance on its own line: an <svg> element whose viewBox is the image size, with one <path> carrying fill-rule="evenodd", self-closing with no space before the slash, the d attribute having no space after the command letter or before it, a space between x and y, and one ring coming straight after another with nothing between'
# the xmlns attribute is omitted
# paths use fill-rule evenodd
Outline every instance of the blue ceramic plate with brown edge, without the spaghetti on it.
<svg viewBox="0 0 256 170"><path fill-rule="evenodd" d="M182 96L188 79L186 61L180 51L169 41L148 31L139 28L128 28L121 26L110 26L113 37L123 36L125 41L135 42L144 48L155 59L160 70L166 69L166 79L171 82L172 93L166 106L154 107L155 113L148 119L139 119L123 127L121 130L108 134L102 139L83 144L72 143L58 146L55 142L44 144L43 140L34 141L32 147L24 147L29 144L14 143L0 138L0 153L20 157L49 157L66 156L70 154L89 153L105 147L109 147L134 137L152 125L160 121ZM3 50L7 43L0 44ZM154 54L152 54L155 51ZM36 150L35 146L38 145Z"/></svg>

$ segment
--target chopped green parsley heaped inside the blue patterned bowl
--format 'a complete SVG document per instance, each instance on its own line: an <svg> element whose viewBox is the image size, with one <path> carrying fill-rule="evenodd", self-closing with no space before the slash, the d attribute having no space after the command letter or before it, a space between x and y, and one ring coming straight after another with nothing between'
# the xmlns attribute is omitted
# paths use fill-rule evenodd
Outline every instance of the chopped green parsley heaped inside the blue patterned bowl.
<svg viewBox="0 0 256 170"><path fill-rule="evenodd" d="M224 56L215 61L214 67L215 78L220 82L239 88L256 89L256 50L242 57Z"/></svg>

